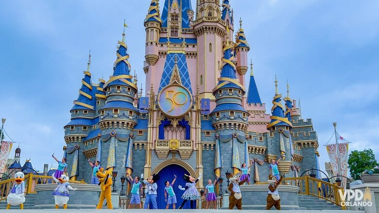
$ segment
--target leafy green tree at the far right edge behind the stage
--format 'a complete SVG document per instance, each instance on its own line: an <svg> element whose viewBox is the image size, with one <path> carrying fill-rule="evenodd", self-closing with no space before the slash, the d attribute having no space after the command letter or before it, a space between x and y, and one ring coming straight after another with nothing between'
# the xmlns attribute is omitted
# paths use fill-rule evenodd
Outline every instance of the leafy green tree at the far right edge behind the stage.
<svg viewBox="0 0 379 213"><path fill-rule="evenodd" d="M364 170L373 169L379 165L377 160L375 160L375 155L371 148L364 149L363 151L352 151L349 154L347 164L348 168L350 168L350 175L354 180L358 180Z"/></svg>

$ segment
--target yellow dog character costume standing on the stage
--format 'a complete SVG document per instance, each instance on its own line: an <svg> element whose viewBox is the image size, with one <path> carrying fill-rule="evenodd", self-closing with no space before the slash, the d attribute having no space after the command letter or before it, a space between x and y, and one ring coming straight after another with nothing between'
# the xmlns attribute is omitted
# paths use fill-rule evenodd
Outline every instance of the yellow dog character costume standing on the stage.
<svg viewBox="0 0 379 213"><path fill-rule="evenodd" d="M110 190L110 186L113 183L112 172L108 170L104 171L104 168L101 168L99 171L96 172L96 176L99 178L99 185L102 189L102 192L100 194L100 200L97 204L96 209L101 209L103 207L104 199L106 199L108 209L113 209Z"/></svg>

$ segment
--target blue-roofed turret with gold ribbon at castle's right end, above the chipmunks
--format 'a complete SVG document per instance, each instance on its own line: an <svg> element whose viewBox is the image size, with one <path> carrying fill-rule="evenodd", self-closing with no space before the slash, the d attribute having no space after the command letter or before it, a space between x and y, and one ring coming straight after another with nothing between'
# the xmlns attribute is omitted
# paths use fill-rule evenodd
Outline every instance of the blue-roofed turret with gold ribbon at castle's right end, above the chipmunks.
<svg viewBox="0 0 379 213"><path fill-rule="evenodd" d="M271 108L271 121L267 125L267 129L270 131L268 140L271 140L271 144L268 143L268 153L266 160L270 162L272 159L277 159L281 156L282 160L278 164L278 169L280 173L289 173L290 167L292 165L292 156L290 146L290 129L292 128L292 123L284 116L284 106L281 103L281 94L278 94L277 84L275 76L275 96L273 99L274 106Z"/></svg>

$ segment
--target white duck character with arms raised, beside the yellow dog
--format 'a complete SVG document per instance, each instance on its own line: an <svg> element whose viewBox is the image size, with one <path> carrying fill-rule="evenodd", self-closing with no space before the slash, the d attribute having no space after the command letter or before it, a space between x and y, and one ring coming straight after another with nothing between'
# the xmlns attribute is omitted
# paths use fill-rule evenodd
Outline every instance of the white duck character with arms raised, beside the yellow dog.
<svg viewBox="0 0 379 213"><path fill-rule="evenodd" d="M59 205L63 205L63 209L67 209L67 203L69 202L69 190L75 191L76 188L72 188L69 184L69 177L61 175L59 179L56 179L52 175L52 180L58 183L58 186L52 192L55 200L55 209L59 208Z"/></svg>

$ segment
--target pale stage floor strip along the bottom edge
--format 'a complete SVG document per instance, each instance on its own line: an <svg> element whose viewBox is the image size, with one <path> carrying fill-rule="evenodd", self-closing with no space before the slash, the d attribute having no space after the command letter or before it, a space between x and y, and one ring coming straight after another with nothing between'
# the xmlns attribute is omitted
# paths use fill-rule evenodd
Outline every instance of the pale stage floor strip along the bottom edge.
<svg viewBox="0 0 379 213"><path fill-rule="evenodd" d="M2 213L365 213L364 211L346 211L346 210L93 210L93 209L42 209L42 210L1 210Z"/></svg>

